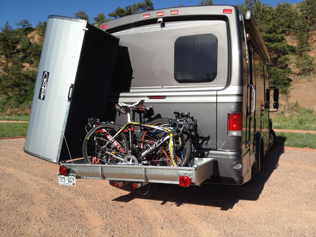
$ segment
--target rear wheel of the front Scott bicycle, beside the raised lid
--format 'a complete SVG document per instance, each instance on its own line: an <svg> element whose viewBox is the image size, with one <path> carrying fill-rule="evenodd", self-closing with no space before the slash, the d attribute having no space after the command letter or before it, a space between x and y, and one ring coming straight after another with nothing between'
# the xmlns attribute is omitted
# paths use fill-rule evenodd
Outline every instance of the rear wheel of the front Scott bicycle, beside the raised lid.
<svg viewBox="0 0 316 237"><path fill-rule="evenodd" d="M123 161L128 151L124 134L120 133L114 141L108 143L117 131L119 129L115 126L102 124L88 132L82 144L82 155L87 164L116 164Z"/></svg>

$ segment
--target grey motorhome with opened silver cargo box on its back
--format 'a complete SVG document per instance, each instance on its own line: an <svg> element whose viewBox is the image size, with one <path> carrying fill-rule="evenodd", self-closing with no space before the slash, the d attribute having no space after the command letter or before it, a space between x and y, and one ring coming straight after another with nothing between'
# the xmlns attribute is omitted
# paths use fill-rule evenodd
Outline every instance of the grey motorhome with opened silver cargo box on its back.
<svg viewBox="0 0 316 237"><path fill-rule="evenodd" d="M274 144L269 114L278 108L278 90L270 87L269 62L252 12L243 16L231 5L152 10L99 29L49 16L24 150L60 163L77 179L139 187L179 184L187 175L192 185L242 185L259 172ZM47 104L38 92L44 72ZM197 119L187 167L69 161L82 157L82 123L97 117L124 124L113 105L142 99L156 117L170 118L176 110Z"/></svg>

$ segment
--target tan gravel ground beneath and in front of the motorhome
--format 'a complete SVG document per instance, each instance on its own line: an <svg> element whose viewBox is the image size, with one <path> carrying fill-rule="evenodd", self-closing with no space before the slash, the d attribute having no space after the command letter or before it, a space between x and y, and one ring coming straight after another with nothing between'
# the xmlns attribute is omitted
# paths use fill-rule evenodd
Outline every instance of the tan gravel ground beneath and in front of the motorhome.
<svg viewBox="0 0 316 237"><path fill-rule="evenodd" d="M0 236L315 236L315 153L275 149L253 184L57 184L58 165L0 140ZM140 189L146 192L146 187Z"/></svg>

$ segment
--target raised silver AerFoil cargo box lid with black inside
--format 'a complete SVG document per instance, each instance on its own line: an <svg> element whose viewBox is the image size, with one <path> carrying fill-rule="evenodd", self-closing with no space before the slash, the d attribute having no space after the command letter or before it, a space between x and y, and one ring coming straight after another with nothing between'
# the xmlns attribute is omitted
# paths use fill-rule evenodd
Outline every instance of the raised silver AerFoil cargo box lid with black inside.
<svg viewBox="0 0 316 237"><path fill-rule="evenodd" d="M48 17L26 153L54 163L70 159L69 152L82 157L82 127L104 118L118 45L86 20Z"/></svg>

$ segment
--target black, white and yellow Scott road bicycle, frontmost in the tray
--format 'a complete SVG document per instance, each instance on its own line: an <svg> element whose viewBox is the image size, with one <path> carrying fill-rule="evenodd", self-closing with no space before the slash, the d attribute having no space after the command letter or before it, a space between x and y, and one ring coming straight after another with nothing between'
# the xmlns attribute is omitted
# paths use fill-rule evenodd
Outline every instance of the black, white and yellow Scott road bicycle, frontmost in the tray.
<svg viewBox="0 0 316 237"><path fill-rule="evenodd" d="M197 121L188 121L189 113L185 115L184 113L174 112L176 113L176 119L169 119L168 126L166 122L163 122L165 123L164 126L136 123L134 122L135 113L146 112L143 102L144 100L140 100L133 105L116 104L115 109L122 114L127 114L128 117L128 122L121 128L110 124L102 124L88 132L82 145L83 157L87 163L174 167L186 165L192 154L192 141L186 130L191 125L195 125ZM131 112L132 121L130 119ZM153 120L151 123L155 124L157 121ZM175 128L173 129L171 125ZM150 134L150 139L135 137L135 126L140 127L141 135ZM128 128L129 142L127 142L124 134L126 128ZM174 135L175 133L176 135ZM185 134L185 139L182 139L182 134ZM177 138L177 141L174 138ZM184 147L185 150L182 149ZM157 156L157 154L160 156Z"/></svg>

